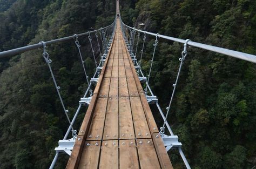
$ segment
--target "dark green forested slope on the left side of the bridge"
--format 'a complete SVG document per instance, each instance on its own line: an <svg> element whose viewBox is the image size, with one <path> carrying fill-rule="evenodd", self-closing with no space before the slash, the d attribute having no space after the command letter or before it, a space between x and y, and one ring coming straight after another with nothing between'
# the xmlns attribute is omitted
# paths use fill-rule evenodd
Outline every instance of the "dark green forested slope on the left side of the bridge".
<svg viewBox="0 0 256 169"><path fill-rule="evenodd" d="M109 25L116 8L114 2L107 0L17 0L13 4L0 1L0 6L3 5L9 8L0 12L0 50ZM79 41L91 76L95 65L88 38L79 38ZM48 46L53 72L71 117L86 90L74 42ZM42 49L22 53L10 60L2 59L0 72L0 168L48 168L55 155L54 147L63 138L68 123ZM79 115L76 129L83 116L84 113ZM60 156L56 168L64 168L67 157Z"/></svg>

